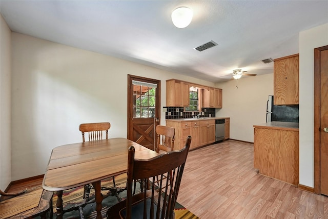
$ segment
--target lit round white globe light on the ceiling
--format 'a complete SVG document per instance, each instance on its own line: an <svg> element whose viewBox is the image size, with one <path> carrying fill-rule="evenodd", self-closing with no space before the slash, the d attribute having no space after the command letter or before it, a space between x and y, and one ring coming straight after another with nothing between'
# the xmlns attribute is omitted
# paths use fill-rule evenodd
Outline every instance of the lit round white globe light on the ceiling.
<svg viewBox="0 0 328 219"><path fill-rule="evenodd" d="M193 12L190 8L180 7L171 14L172 22L177 28L187 27L193 18Z"/></svg>

